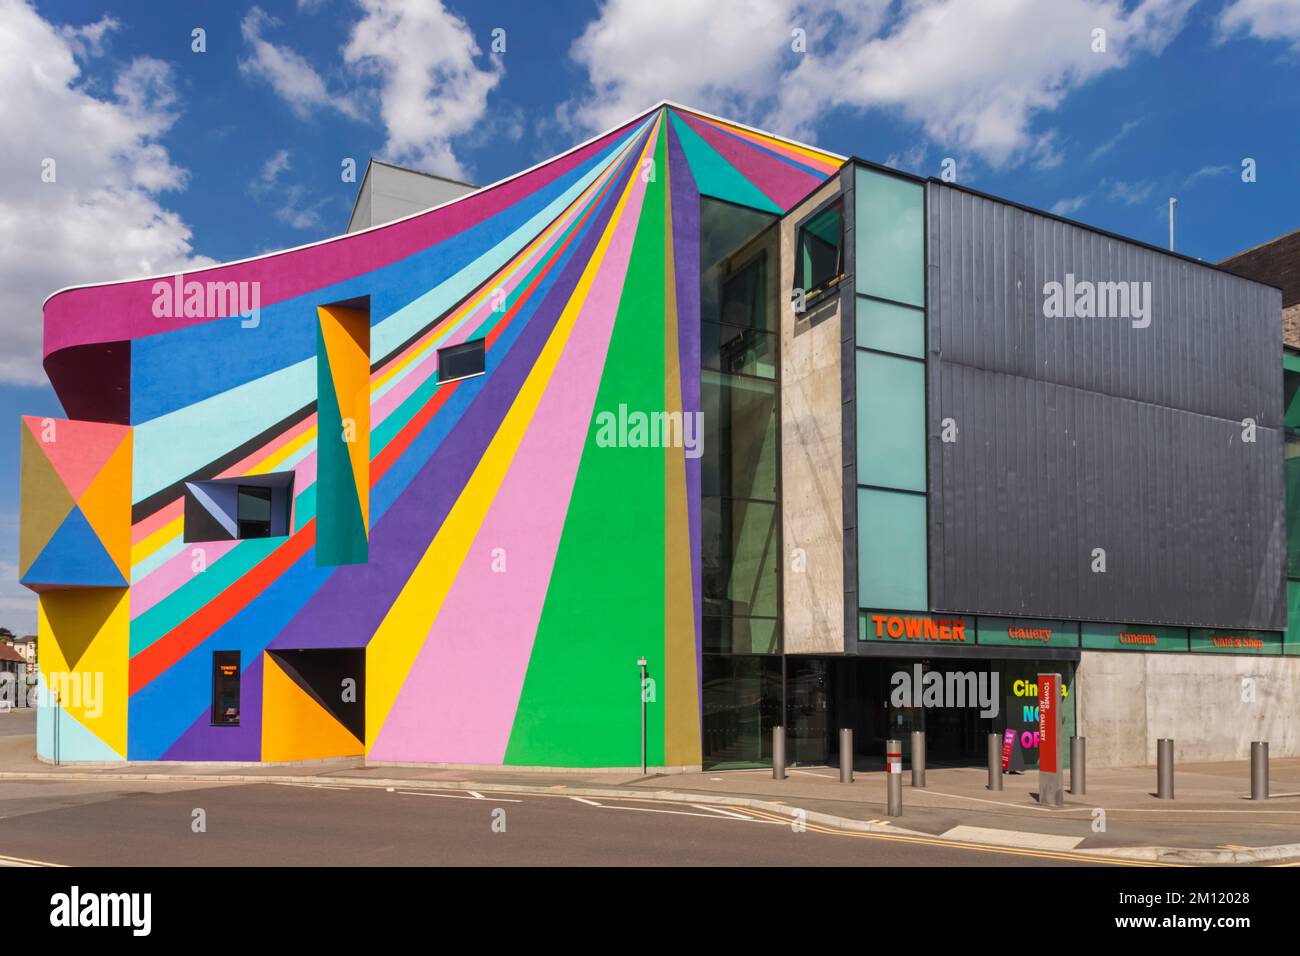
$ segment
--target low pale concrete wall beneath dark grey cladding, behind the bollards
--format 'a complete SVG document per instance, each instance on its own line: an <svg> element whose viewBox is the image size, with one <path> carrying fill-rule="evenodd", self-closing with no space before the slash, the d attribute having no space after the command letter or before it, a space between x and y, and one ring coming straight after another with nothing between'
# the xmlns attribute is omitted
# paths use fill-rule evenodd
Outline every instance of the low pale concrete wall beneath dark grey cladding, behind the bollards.
<svg viewBox="0 0 1300 956"><path fill-rule="evenodd" d="M1075 688L1089 766L1154 763L1160 737L1175 761L1300 756L1300 658L1086 650Z"/></svg>

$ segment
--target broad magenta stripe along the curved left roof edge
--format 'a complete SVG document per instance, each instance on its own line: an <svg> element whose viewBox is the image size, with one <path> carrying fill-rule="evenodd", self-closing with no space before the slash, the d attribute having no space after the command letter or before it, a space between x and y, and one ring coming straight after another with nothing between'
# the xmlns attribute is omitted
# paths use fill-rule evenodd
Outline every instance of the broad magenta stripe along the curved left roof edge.
<svg viewBox="0 0 1300 956"><path fill-rule="evenodd" d="M593 155L608 148L633 129L637 121L576 150L568 156L503 182L460 202L394 222L382 229L263 256L247 263L220 265L186 273L203 281L259 282L261 304L303 295L365 272L390 265L462 233L502 209L554 182ZM140 338L198 325L207 319L157 319L153 316L153 282L144 278L113 285L70 289L46 303L46 351L91 342Z"/></svg>

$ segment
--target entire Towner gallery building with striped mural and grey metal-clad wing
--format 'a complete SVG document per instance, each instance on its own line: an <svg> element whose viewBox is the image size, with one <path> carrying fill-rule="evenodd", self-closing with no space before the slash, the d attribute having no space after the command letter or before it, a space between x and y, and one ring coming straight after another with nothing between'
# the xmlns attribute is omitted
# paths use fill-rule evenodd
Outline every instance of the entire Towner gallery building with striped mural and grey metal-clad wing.
<svg viewBox="0 0 1300 956"><path fill-rule="evenodd" d="M667 103L462 193L47 300L43 758L1300 753L1277 289Z"/></svg>

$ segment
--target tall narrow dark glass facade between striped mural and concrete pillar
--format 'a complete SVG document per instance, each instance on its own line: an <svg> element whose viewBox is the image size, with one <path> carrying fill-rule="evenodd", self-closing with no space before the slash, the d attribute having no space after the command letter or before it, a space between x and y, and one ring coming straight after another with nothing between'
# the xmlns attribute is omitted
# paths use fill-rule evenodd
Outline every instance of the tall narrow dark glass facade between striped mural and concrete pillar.
<svg viewBox="0 0 1300 956"><path fill-rule="evenodd" d="M701 199L703 762L771 762L781 701L776 217Z"/></svg>

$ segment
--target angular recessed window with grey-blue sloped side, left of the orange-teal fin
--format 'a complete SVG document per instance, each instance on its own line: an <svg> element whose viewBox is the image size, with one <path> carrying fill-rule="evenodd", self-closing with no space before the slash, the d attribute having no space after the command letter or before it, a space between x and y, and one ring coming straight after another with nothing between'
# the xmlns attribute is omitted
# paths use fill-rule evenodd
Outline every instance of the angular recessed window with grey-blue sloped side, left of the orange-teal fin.
<svg viewBox="0 0 1300 956"><path fill-rule="evenodd" d="M186 541L238 541L289 535L294 472L185 483Z"/></svg>

